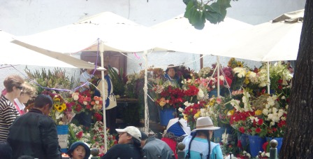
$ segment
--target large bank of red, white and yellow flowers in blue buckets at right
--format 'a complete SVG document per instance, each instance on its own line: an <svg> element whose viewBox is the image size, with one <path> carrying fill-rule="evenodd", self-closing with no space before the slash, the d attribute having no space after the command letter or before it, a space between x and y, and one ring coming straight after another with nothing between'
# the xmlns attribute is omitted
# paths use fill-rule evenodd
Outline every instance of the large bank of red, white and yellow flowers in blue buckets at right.
<svg viewBox="0 0 313 159"><path fill-rule="evenodd" d="M282 141L286 129L286 110L291 88L288 66L277 62L252 69L231 58L228 66L221 67L220 71L224 74L219 76L221 89L229 89L231 94L210 97L217 85L214 67L216 65L205 67L199 74L189 71L189 77L182 76L182 85L160 82L161 78L150 83L153 85L150 91L154 92L152 97L157 106L161 109L175 108L178 111L176 116L185 118L191 130L198 117L210 116L214 125L221 127L221 132L214 132L214 141L221 143L224 155L229 152L240 155L246 151L255 157L259 151L268 153L268 148L262 148L264 143L268 144L265 141L272 138ZM272 83L270 94L265 91L268 67ZM245 138L244 134L247 135ZM249 144L254 138L259 139L259 147L256 143Z"/></svg>

